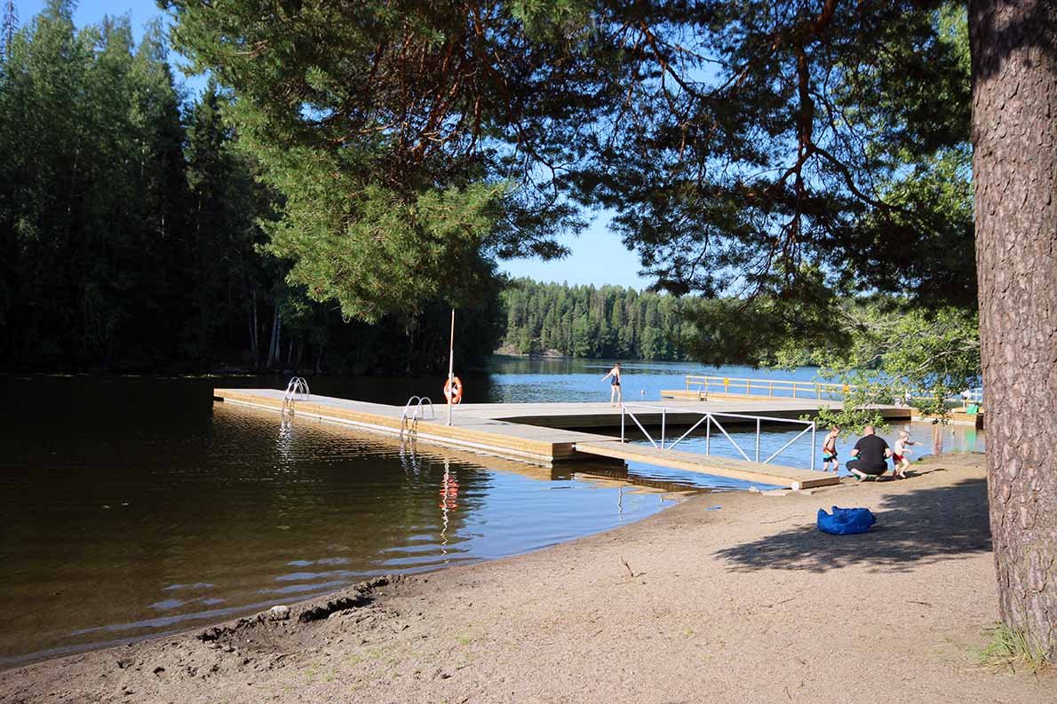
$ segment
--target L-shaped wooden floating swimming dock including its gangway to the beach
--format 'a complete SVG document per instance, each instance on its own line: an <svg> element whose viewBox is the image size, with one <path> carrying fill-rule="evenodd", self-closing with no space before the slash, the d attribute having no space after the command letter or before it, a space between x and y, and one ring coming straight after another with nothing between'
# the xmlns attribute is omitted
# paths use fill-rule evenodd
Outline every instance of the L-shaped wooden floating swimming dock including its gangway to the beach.
<svg viewBox="0 0 1057 704"><path fill-rule="evenodd" d="M315 394L290 404L286 394L276 389L215 389L214 399L280 413L292 405L296 418L408 436L418 442L470 449L548 467L554 463L609 458L795 489L839 482L835 475L820 471L628 444L612 436L592 432L619 430L622 422L634 427L619 407L606 403L462 404L456 406L452 425L447 425L446 406L438 406L434 413L429 413L427 407L425 418L410 420L406 418L404 406ZM634 413L646 427L659 427L664 415L663 422L674 428L693 425L705 412L766 414L795 420L817 410L818 405L812 402L769 399L765 404L755 400L676 401L666 403L663 411L660 406L636 405ZM893 420L909 420L907 409L892 407L885 411L891 413Z"/></svg>

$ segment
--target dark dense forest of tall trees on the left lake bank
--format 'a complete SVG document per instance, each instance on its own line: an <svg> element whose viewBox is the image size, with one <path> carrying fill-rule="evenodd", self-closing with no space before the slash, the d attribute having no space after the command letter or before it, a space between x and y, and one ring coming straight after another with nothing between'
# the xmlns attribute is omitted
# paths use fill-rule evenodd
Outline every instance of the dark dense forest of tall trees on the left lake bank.
<svg viewBox="0 0 1057 704"><path fill-rule="evenodd" d="M0 363L24 369L446 366L448 309L349 320L288 282L266 248L283 207L227 119L229 92L188 99L162 26L77 29L53 1L0 38ZM459 356L502 334L500 281L460 312ZM485 288L487 290L487 286Z"/></svg>

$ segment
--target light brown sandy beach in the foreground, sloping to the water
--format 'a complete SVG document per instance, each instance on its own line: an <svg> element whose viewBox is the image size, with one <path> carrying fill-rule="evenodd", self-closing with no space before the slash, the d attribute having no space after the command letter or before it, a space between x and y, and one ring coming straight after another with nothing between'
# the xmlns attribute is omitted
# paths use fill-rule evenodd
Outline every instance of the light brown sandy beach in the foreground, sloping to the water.
<svg viewBox="0 0 1057 704"><path fill-rule="evenodd" d="M980 455L812 495L707 494L517 557L0 672L2 702L1057 702L979 664ZM816 531L868 506L874 531Z"/></svg>

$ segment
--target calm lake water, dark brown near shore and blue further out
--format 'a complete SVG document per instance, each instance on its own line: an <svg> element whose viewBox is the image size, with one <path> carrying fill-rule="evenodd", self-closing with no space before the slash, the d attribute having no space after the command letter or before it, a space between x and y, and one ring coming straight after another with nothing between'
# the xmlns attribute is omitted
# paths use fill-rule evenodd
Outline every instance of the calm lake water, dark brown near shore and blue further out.
<svg viewBox="0 0 1057 704"><path fill-rule="evenodd" d="M465 400L608 400L599 378L609 367L497 358L489 374L464 375ZM650 402L684 374L766 375L666 363L624 371L626 400ZM285 377L0 378L0 667L203 626L379 573L536 550L688 494L747 486L639 464L540 469L212 402L214 387L283 388ZM437 378L311 383L314 393L381 403L442 397ZM931 428L913 432L927 449ZM945 433L946 450L982 449L982 433ZM755 449L753 433L733 434ZM793 434L764 432L761 451ZM689 438L680 448L703 445ZM711 449L738 457L725 440ZM806 466L811 451L801 439L776 461Z"/></svg>

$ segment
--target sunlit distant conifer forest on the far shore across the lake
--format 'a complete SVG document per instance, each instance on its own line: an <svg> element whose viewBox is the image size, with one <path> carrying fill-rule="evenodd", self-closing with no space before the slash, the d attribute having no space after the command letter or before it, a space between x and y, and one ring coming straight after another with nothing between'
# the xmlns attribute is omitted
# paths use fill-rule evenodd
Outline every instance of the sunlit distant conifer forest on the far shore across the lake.
<svg viewBox="0 0 1057 704"><path fill-rule="evenodd" d="M685 359L690 325L672 296L518 279L503 291L503 350L586 358Z"/></svg>

